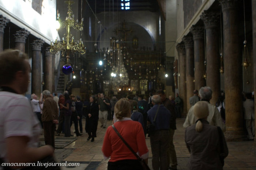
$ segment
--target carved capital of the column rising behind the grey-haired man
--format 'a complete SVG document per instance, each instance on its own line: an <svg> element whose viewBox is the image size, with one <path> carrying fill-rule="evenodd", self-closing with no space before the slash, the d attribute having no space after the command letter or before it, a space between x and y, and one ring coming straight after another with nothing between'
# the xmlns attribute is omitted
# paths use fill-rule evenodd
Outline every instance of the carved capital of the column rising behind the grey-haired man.
<svg viewBox="0 0 256 170"><path fill-rule="evenodd" d="M220 22L220 13L213 11L204 11L200 18L203 20L206 27L217 27Z"/></svg>

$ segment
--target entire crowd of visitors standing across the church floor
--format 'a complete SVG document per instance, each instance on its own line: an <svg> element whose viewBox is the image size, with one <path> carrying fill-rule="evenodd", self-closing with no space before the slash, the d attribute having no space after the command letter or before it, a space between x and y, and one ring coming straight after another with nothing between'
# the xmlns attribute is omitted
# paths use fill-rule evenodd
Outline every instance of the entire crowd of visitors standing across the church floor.
<svg viewBox="0 0 256 170"><path fill-rule="evenodd" d="M99 127L107 128L102 152L104 158L110 158L108 170L142 169L141 159L148 163L147 133L153 170L177 169L173 136L176 117L181 117L182 112L182 99L178 93L176 98L167 98L164 90L158 90L150 94L148 101L143 95L117 100L116 96L110 99L104 93L98 93L90 96L88 102L82 102L79 96L69 95L68 91L53 96L49 90L44 90L40 97L31 94L29 102L23 95L29 86L31 72L26 58L27 55L19 50L0 53L0 63L5 63L0 67L0 163L36 162L52 156L54 135L81 136L85 117L87 140L94 142L98 122ZM249 140L255 136L252 94L245 93L243 103ZM228 155L223 135L226 131L225 95L221 93L215 105L210 104L211 97L211 88L202 87L199 91L194 90L189 98L191 108L183 127L186 128L185 143L191 153L188 162L191 170L221 170L223 159ZM107 120L113 120L112 125ZM73 123L74 134L71 133ZM40 147L38 138L42 128L45 146Z"/></svg>

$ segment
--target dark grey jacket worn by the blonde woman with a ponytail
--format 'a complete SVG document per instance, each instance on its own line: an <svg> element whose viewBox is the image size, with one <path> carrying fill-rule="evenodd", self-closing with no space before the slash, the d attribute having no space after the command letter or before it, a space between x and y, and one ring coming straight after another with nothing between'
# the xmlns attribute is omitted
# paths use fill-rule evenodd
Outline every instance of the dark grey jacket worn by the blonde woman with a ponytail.
<svg viewBox="0 0 256 170"><path fill-rule="evenodd" d="M185 142L190 152L188 161L189 170L222 170L219 159L220 145L219 134L216 126L202 120L203 130L197 132L196 125L191 125L185 130ZM222 132L224 157L228 155L228 148Z"/></svg>

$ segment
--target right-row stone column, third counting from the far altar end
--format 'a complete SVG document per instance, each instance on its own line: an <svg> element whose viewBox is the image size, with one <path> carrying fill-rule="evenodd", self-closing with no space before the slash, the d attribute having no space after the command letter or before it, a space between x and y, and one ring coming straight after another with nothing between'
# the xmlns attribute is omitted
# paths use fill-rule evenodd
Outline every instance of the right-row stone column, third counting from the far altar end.
<svg viewBox="0 0 256 170"><path fill-rule="evenodd" d="M190 32L194 40L195 89L206 85L204 74L204 27L192 26Z"/></svg>

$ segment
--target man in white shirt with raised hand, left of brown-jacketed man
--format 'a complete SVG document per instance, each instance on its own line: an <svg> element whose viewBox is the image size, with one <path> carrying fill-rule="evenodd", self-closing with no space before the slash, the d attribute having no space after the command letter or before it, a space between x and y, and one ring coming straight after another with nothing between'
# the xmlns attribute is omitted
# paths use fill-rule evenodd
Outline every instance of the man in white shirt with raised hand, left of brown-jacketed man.
<svg viewBox="0 0 256 170"><path fill-rule="evenodd" d="M39 100L37 100L37 95L35 93L31 94L31 107L32 107L32 111L37 115L38 120L41 123L41 126L43 127L43 123L42 123L42 113L41 113L41 108L39 106L39 104L43 103L43 94L40 94L40 98Z"/></svg>

